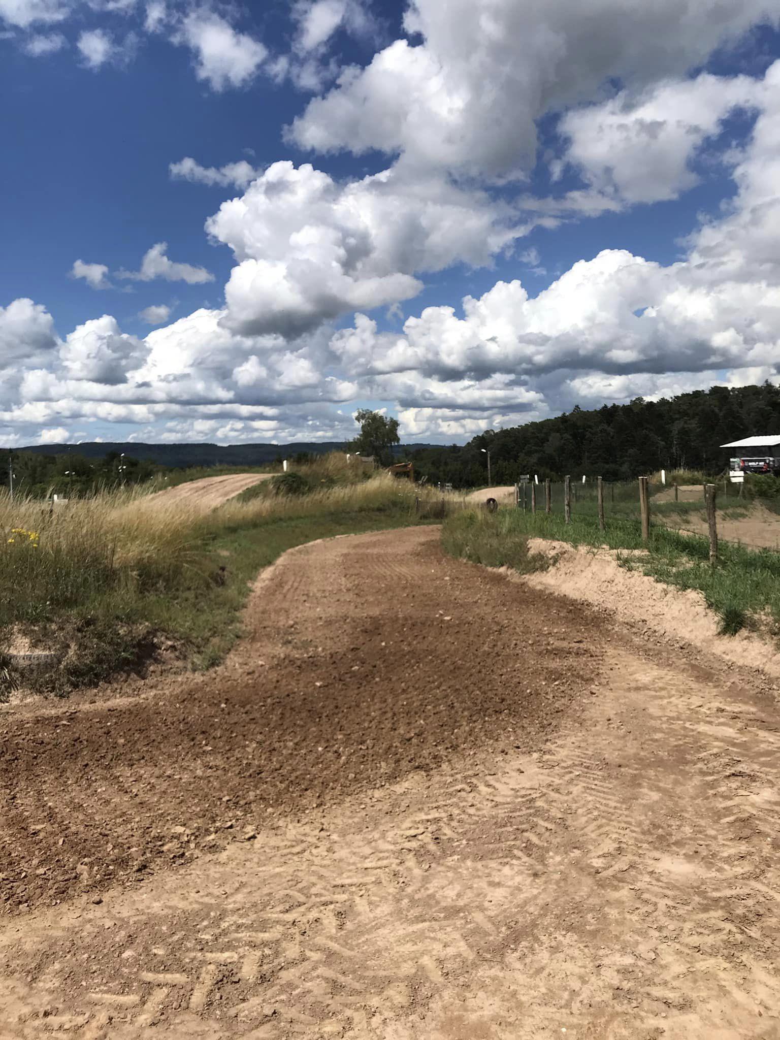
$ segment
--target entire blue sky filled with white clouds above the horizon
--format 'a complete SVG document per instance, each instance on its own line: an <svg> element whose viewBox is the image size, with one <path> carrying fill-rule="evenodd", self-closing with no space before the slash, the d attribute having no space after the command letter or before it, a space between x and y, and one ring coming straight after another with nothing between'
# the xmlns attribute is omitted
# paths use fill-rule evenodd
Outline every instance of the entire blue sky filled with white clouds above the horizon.
<svg viewBox="0 0 780 1040"><path fill-rule="evenodd" d="M0 0L0 51L5 445L776 379L764 0Z"/></svg>

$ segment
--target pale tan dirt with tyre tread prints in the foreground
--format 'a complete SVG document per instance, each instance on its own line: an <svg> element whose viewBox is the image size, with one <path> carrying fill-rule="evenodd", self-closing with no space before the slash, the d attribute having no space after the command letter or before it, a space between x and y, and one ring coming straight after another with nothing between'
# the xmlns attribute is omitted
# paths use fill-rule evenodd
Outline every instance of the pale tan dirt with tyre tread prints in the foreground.
<svg viewBox="0 0 780 1040"><path fill-rule="evenodd" d="M0 1038L774 1040L777 707L608 639L536 750L454 753L3 927Z"/></svg>

